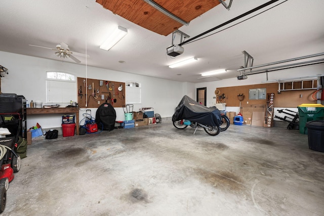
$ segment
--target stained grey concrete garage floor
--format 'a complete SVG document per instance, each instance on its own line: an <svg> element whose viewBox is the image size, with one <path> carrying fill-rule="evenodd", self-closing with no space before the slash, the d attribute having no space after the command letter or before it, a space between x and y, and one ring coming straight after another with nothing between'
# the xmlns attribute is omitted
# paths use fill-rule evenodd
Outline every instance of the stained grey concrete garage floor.
<svg viewBox="0 0 324 216"><path fill-rule="evenodd" d="M324 215L324 153L307 135L162 123L33 141L3 215Z"/></svg>

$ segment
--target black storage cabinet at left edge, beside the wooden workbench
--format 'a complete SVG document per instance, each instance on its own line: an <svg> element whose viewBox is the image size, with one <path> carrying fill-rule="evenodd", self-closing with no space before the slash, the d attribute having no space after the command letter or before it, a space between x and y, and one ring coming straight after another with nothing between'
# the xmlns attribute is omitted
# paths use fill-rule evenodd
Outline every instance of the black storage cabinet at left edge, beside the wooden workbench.
<svg viewBox="0 0 324 216"><path fill-rule="evenodd" d="M16 94L0 94L0 127L6 123L5 117L8 118L10 113L16 120L10 123L11 132L23 138L27 138L27 115L26 115L26 99L22 95ZM6 126L7 127L7 126Z"/></svg>

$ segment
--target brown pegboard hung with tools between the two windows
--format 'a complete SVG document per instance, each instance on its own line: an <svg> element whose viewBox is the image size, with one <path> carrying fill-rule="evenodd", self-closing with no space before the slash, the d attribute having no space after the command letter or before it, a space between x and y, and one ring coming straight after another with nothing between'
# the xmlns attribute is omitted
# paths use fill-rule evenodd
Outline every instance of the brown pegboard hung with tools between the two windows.
<svg viewBox="0 0 324 216"><path fill-rule="evenodd" d="M102 81L102 85L100 85L100 81ZM90 85L91 90L89 89ZM121 88L121 91L118 88L119 90ZM87 80L83 77L77 77L77 89L77 103L80 108L98 108L105 102L110 103L113 107L123 107L125 105L125 82L89 78ZM80 94L80 92L82 93Z"/></svg>

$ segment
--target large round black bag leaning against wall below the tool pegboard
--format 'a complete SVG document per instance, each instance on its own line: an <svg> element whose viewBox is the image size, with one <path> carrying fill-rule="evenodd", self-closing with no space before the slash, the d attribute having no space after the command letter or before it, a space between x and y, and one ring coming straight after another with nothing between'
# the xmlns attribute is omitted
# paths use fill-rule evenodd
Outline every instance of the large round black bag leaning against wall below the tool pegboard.
<svg viewBox="0 0 324 216"><path fill-rule="evenodd" d="M115 127L116 111L109 103L101 104L96 112L96 123L98 129L112 131Z"/></svg>

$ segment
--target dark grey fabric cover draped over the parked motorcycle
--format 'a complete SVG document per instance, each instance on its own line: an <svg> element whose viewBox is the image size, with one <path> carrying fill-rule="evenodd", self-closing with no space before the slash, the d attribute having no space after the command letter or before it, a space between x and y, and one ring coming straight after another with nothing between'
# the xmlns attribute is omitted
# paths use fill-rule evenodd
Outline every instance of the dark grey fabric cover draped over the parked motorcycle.
<svg viewBox="0 0 324 216"><path fill-rule="evenodd" d="M188 96L183 96L176 112L172 116L172 121L186 119L210 126L221 124L221 112L217 108L209 108L199 104Z"/></svg>

